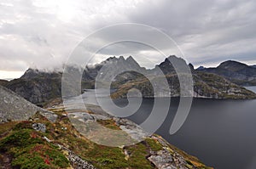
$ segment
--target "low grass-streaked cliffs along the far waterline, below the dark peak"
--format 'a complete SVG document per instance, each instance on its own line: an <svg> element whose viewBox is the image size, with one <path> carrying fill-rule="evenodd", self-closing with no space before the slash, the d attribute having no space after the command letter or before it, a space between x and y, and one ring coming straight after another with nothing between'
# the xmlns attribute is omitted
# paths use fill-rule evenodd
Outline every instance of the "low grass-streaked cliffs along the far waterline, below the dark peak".
<svg viewBox="0 0 256 169"><path fill-rule="evenodd" d="M169 83L171 93L169 91L160 90L165 85L162 79L166 79ZM211 99L255 99L256 94L248 91L244 87L240 87L232 82L227 81L222 76L211 73L195 72L194 93L195 98L211 98ZM119 85L118 89L112 94L113 99L126 98L126 94L131 88L137 88L141 91L144 98L153 97L178 97L180 96L180 86L176 74L155 77L157 83L151 84L148 79L140 78ZM154 93L154 88L160 93ZM132 95L137 97L137 95Z"/></svg>

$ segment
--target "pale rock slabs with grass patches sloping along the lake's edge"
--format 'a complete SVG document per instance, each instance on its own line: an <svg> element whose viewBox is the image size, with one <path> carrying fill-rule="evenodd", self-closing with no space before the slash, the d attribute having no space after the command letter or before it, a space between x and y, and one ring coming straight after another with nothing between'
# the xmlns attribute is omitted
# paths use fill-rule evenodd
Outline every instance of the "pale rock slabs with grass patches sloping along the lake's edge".
<svg viewBox="0 0 256 169"><path fill-rule="evenodd" d="M85 139L90 139L90 141L96 141L96 139L94 139L94 137L96 137L107 140L107 142L101 140L99 142L101 144L109 144L111 142L112 149L119 149L122 151L122 156L127 162L128 168L211 168L203 165L194 156L187 155L182 150L175 148L171 144L168 144L166 140L161 138L160 136L155 134L148 135L148 132L143 131L141 127L137 126L137 124L132 121L109 115L97 105L87 104L86 108L87 110L69 109L70 113L67 113L67 116L69 116L69 120L73 122L73 127L75 127L76 130L78 130ZM55 105L54 108L50 108L50 110L58 113L61 112L62 115L66 116L65 114L63 114L63 105ZM92 123L94 123L94 125L91 125ZM101 128L101 130L103 130L104 132L96 130L96 123L100 124L103 127ZM108 129L106 130L106 128ZM110 132L108 133L108 131ZM125 140L131 141L131 139L133 139L135 142L131 145L121 145L119 143L122 140L119 138L115 138L114 132L118 132L119 138L123 136L121 133L125 132L128 134ZM108 140L110 140L110 142L108 142ZM123 144L127 144L127 142L123 142ZM104 147L104 145L102 146ZM115 148L117 146L119 148ZM142 157L143 159L141 159ZM114 157L114 155L108 156L108 161L111 161L112 158L116 157ZM137 166L132 166L130 164L131 161L136 161ZM91 162L91 164L95 164L97 168L105 168L105 166L98 166L98 164L94 162ZM108 167L124 168L124 166Z"/></svg>

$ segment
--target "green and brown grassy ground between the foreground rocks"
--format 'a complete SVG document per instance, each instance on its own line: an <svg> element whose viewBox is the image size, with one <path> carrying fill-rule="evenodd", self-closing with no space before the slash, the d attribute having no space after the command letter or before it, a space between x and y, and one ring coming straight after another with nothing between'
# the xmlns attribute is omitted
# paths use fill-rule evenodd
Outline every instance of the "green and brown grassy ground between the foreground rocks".
<svg viewBox="0 0 256 169"><path fill-rule="evenodd" d="M97 168L154 168L148 161L149 150L160 150L161 145L152 138L125 148L113 148L90 142L77 132L70 124L62 110L56 112L58 121L50 123L43 116L36 115L36 121L19 121L0 124L0 166L5 168L68 168L67 155L55 144L61 144L73 150ZM32 129L32 123L41 122L46 125L47 132ZM119 129L113 121L99 121L105 127ZM67 129L66 129L67 127ZM65 128L65 129L63 129ZM52 140L48 143L44 136ZM177 148L170 145L170 151ZM124 151L130 152L129 158ZM180 151L180 150L179 150ZM183 151L180 151L183 152ZM184 154L189 164L199 168L207 168L198 159Z"/></svg>

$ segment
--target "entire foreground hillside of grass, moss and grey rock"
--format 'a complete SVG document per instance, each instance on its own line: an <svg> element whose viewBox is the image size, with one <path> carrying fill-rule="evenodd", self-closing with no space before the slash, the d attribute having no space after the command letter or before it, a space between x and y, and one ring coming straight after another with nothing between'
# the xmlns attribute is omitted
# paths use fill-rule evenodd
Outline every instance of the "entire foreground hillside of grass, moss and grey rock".
<svg viewBox="0 0 256 169"><path fill-rule="evenodd" d="M53 105L49 110L55 112L50 114L55 121L49 121L49 111L20 99L8 89L0 89L1 115L12 115L9 121L0 124L0 168L210 168L160 136L147 135L131 121L103 115L95 105L72 113L67 113L62 104ZM80 121L83 128L95 123L113 132L131 133L131 137L143 136L143 141L119 147L96 144L83 131L78 132L70 119ZM90 131L94 132L94 128ZM106 133L96 134L115 141Z"/></svg>

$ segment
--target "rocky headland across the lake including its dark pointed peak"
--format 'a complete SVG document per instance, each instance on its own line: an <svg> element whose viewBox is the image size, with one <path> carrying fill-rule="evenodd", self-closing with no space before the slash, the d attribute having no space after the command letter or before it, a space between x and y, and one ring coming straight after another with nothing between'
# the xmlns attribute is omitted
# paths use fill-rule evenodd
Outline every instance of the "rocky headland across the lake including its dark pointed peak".
<svg viewBox="0 0 256 169"><path fill-rule="evenodd" d="M185 61L183 59L179 59L176 56L170 56L172 59L176 59L177 62ZM125 81L125 73L119 75L116 78L116 81L113 82L113 87L117 87L117 91L112 94L113 99L117 98L125 98L127 92L131 88L139 89L143 97L151 98L151 97L178 97L180 95L179 91L179 81L177 79L177 74L172 66L172 63L169 59L166 59L160 65L156 65L162 70L165 76L156 75L155 69L148 70L148 75L153 74L154 78L152 81L157 82L154 85L155 91L161 91L160 93L154 94L154 89L152 84L148 81L148 79L143 75L138 76L130 76L131 78ZM201 70L194 70L194 66L189 64L189 68L191 70L193 79L194 79L194 94L193 96L196 98L212 98L212 99L255 99L256 94L248 91L244 87L240 87L235 83L226 80L223 76L218 76L213 73L207 73ZM238 69L238 68L237 68ZM152 76L151 76L152 77ZM164 81L167 80L169 83L169 87L171 88L171 94L169 91L164 91ZM127 78L126 78L127 79ZM136 97L137 95L133 95Z"/></svg>

